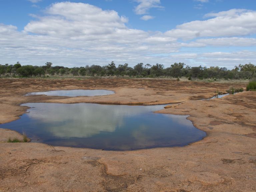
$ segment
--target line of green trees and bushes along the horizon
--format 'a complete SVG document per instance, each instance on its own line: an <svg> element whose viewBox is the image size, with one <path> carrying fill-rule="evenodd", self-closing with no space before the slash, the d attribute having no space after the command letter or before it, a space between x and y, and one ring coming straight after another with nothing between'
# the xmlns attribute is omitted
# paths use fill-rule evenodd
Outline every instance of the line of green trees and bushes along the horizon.
<svg viewBox="0 0 256 192"><path fill-rule="evenodd" d="M52 66L47 62L43 66L21 65L17 62L14 65L0 65L0 77L45 77L54 75L73 76L129 76L129 77L187 77L189 79L251 79L256 76L256 66L248 63L245 65L235 66L234 69L228 70L226 67L190 67L185 63L174 63L170 67L164 68L162 64L138 63L134 67L129 67L127 63L116 66L112 61L105 66L86 65L85 67L63 67Z"/></svg>

